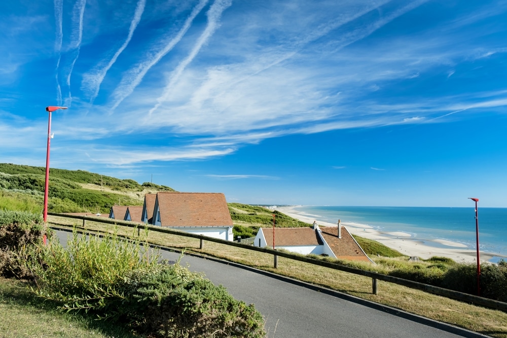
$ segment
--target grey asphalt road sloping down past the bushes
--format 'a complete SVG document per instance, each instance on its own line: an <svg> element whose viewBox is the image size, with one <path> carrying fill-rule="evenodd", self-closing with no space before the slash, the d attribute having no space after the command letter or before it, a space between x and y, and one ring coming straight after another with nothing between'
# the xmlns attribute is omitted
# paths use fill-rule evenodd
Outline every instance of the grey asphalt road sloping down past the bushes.
<svg viewBox="0 0 507 338"><path fill-rule="evenodd" d="M60 243L68 233L57 231ZM161 251L162 257L176 261L178 253ZM479 337L475 332L431 323L423 318L390 311L353 297L330 295L291 281L273 278L250 268L193 256L184 256L182 265L204 273L214 284L224 285L237 299L254 303L266 319L269 338L385 337L451 338ZM397 314L396 314L397 313Z"/></svg>

